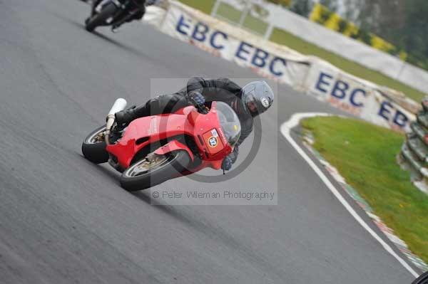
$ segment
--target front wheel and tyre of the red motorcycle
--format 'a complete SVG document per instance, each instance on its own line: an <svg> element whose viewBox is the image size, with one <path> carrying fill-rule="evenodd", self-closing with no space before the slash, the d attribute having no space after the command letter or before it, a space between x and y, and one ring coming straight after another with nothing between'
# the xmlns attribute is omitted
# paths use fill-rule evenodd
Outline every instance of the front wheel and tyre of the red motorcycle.
<svg viewBox="0 0 428 284"><path fill-rule="evenodd" d="M184 150L156 155L150 162L147 158L141 159L122 173L121 186L127 191L148 189L178 177L189 164L189 154Z"/></svg>

